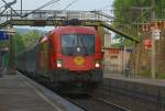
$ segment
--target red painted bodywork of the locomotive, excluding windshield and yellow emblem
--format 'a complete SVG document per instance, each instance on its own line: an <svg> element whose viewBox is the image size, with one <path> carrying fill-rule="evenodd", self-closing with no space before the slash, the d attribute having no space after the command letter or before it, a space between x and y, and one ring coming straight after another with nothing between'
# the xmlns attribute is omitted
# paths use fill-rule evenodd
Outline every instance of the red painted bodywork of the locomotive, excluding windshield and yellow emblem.
<svg viewBox="0 0 165 111"><path fill-rule="evenodd" d="M81 65L76 64L76 57L79 56L66 56L62 54L62 38L64 34L91 34L95 35L95 53L92 55L80 56L82 59ZM101 53L101 36L98 34L96 29L88 26L59 26L52 31L50 34L44 36L38 42L38 46L45 45L45 49L37 51L37 68L41 69L46 67L48 70L58 69L56 60L62 59L62 69L70 71L88 71L96 69L96 60L102 60ZM46 46L47 45L47 46ZM46 52L48 51L48 52ZM44 53L47 55L44 55ZM47 66L46 66L46 65ZM43 65L43 67L42 67ZM102 67L99 67L102 68Z"/></svg>

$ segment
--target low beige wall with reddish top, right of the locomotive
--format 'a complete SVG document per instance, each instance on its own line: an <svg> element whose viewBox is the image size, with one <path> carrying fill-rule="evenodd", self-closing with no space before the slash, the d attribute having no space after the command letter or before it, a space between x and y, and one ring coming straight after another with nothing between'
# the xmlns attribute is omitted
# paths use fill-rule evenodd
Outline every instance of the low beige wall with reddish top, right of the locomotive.
<svg viewBox="0 0 165 111"><path fill-rule="evenodd" d="M132 49L109 48L105 51L105 73L124 74Z"/></svg>

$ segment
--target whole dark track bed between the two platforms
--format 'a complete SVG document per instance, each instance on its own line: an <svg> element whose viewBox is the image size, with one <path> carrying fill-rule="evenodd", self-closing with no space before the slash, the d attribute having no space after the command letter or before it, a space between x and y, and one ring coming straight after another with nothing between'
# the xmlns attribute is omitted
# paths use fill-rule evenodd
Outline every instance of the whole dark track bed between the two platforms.
<svg viewBox="0 0 165 111"><path fill-rule="evenodd" d="M40 84L55 91L50 85L43 82ZM95 95L95 97L98 98L94 98L94 95L62 96L59 92L58 95L85 111L164 111L164 97L139 93L138 91L120 87L110 87L110 90L103 88L100 90L105 92ZM108 91L108 93L106 93L106 91Z"/></svg>

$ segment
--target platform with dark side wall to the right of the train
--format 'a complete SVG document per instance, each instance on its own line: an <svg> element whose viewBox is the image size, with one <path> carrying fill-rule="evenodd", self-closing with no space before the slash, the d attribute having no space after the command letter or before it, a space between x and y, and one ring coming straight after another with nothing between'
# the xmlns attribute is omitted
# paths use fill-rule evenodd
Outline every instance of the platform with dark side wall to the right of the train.
<svg viewBox="0 0 165 111"><path fill-rule="evenodd" d="M158 108L164 109L158 111L165 111L164 79L133 78L124 77L121 74L105 74L103 82L99 91L101 92L102 90L109 93L113 91L130 97L134 96L136 99L152 102L155 108L158 106Z"/></svg>

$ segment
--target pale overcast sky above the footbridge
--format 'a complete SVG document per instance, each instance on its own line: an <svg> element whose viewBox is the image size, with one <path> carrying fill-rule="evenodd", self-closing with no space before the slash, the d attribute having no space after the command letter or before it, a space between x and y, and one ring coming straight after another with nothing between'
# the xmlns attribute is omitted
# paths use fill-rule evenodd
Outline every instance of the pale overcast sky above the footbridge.
<svg viewBox="0 0 165 111"><path fill-rule="evenodd" d="M7 2L11 2L13 0L6 0ZM23 9L36 9L42 4L51 1L51 0L22 0L23 1ZM46 9L52 10L63 10L66 5L70 2L76 1L72 4L67 10L109 10L111 9L111 4L113 0L61 0ZM20 9L21 0L16 0L16 3L13 5L14 9ZM0 7L3 5L2 0L0 0Z"/></svg>

